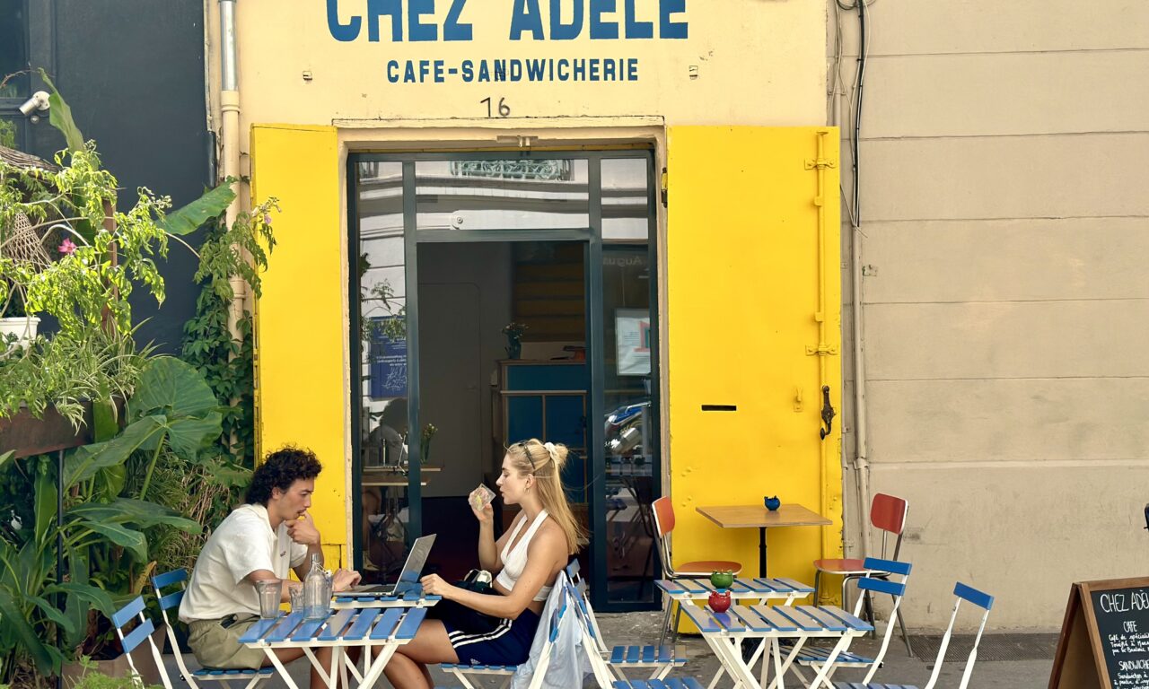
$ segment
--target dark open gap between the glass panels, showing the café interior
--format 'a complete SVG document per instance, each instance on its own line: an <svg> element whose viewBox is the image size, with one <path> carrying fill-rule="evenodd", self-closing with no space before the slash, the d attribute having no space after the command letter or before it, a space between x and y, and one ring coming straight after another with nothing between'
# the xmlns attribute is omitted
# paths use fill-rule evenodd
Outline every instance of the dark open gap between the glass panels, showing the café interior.
<svg viewBox="0 0 1149 689"><path fill-rule="evenodd" d="M568 446L563 482L589 529L584 254L581 242L418 248L419 418L434 427L423 458L423 533L438 534L431 565L448 579L475 566L478 528L466 495L480 482L498 489L509 443ZM508 353L510 323L525 326L518 353ZM494 506L506 528L517 508Z"/></svg>

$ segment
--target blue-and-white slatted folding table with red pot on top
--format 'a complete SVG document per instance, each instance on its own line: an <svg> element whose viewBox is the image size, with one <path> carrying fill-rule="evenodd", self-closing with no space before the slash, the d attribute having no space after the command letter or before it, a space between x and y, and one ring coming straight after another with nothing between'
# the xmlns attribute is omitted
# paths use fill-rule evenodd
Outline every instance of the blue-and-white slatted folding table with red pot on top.
<svg viewBox="0 0 1149 689"><path fill-rule="evenodd" d="M709 607L684 605L683 612L699 627L702 638L722 663L724 672L715 675L711 689L720 675L727 673L735 684L746 689L762 689L766 686L771 666L773 678L769 688L784 689L785 675L805 642L810 638L834 638L836 643L830 651L827 663L809 684L811 689L830 689L832 684L826 675L834 660L849 649L854 638L873 630L865 620L833 605L731 605L730 610L722 613L712 612ZM784 649L779 643L782 638L793 638L793 645ZM748 660L742 657L743 640L758 640L758 645ZM755 676L753 667L759 659L762 671Z"/></svg>

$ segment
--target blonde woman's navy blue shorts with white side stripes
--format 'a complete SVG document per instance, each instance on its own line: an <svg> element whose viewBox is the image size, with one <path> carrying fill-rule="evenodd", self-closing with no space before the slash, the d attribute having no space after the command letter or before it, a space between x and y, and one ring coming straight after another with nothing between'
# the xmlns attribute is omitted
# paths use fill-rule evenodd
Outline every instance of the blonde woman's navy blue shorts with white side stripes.
<svg viewBox="0 0 1149 689"><path fill-rule="evenodd" d="M519 665L526 663L539 628L539 616L526 609L517 619L480 614L454 601L440 601L429 617L442 620L447 637L462 665Z"/></svg>

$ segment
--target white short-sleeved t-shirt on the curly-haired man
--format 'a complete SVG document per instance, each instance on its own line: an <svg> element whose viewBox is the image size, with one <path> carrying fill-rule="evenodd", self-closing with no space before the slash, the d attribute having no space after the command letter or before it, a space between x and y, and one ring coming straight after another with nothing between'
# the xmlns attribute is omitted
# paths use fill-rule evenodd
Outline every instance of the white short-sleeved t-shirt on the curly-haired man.
<svg viewBox="0 0 1149 689"><path fill-rule="evenodd" d="M241 505L223 520L203 545L184 601L179 619L216 620L237 613L260 614L255 585L245 576L256 570L269 570L287 579L291 568L307 559L307 545L287 535L287 524L271 531L268 509Z"/></svg>

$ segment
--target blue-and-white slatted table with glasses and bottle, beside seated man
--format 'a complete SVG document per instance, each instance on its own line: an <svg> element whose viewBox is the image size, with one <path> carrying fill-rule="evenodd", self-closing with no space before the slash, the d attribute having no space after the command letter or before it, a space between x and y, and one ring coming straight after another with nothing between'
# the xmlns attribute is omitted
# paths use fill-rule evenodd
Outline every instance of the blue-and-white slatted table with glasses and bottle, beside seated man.
<svg viewBox="0 0 1149 689"><path fill-rule="evenodd" d="M303 649L311 666L329 688L334 687L336 673L339 672L344 687L348 686L347 678L350 674L361 688L370 689L395 650L415 638L415 633L426 618L426 606L438 602L438 597L433 598L401 601L386 606L344 606L315 620L306 620L299 612L280 614L252 625L239 641L244 645L262 649L290 689L299 687L276 656L279 649ZM314 649L317 648L332 650L330 668L323 667L315 657ZM353 648L361 649L362 671L347 656L347 649ZM372 657L371 651L375 649L378 649L378 655Z"/></svg>

